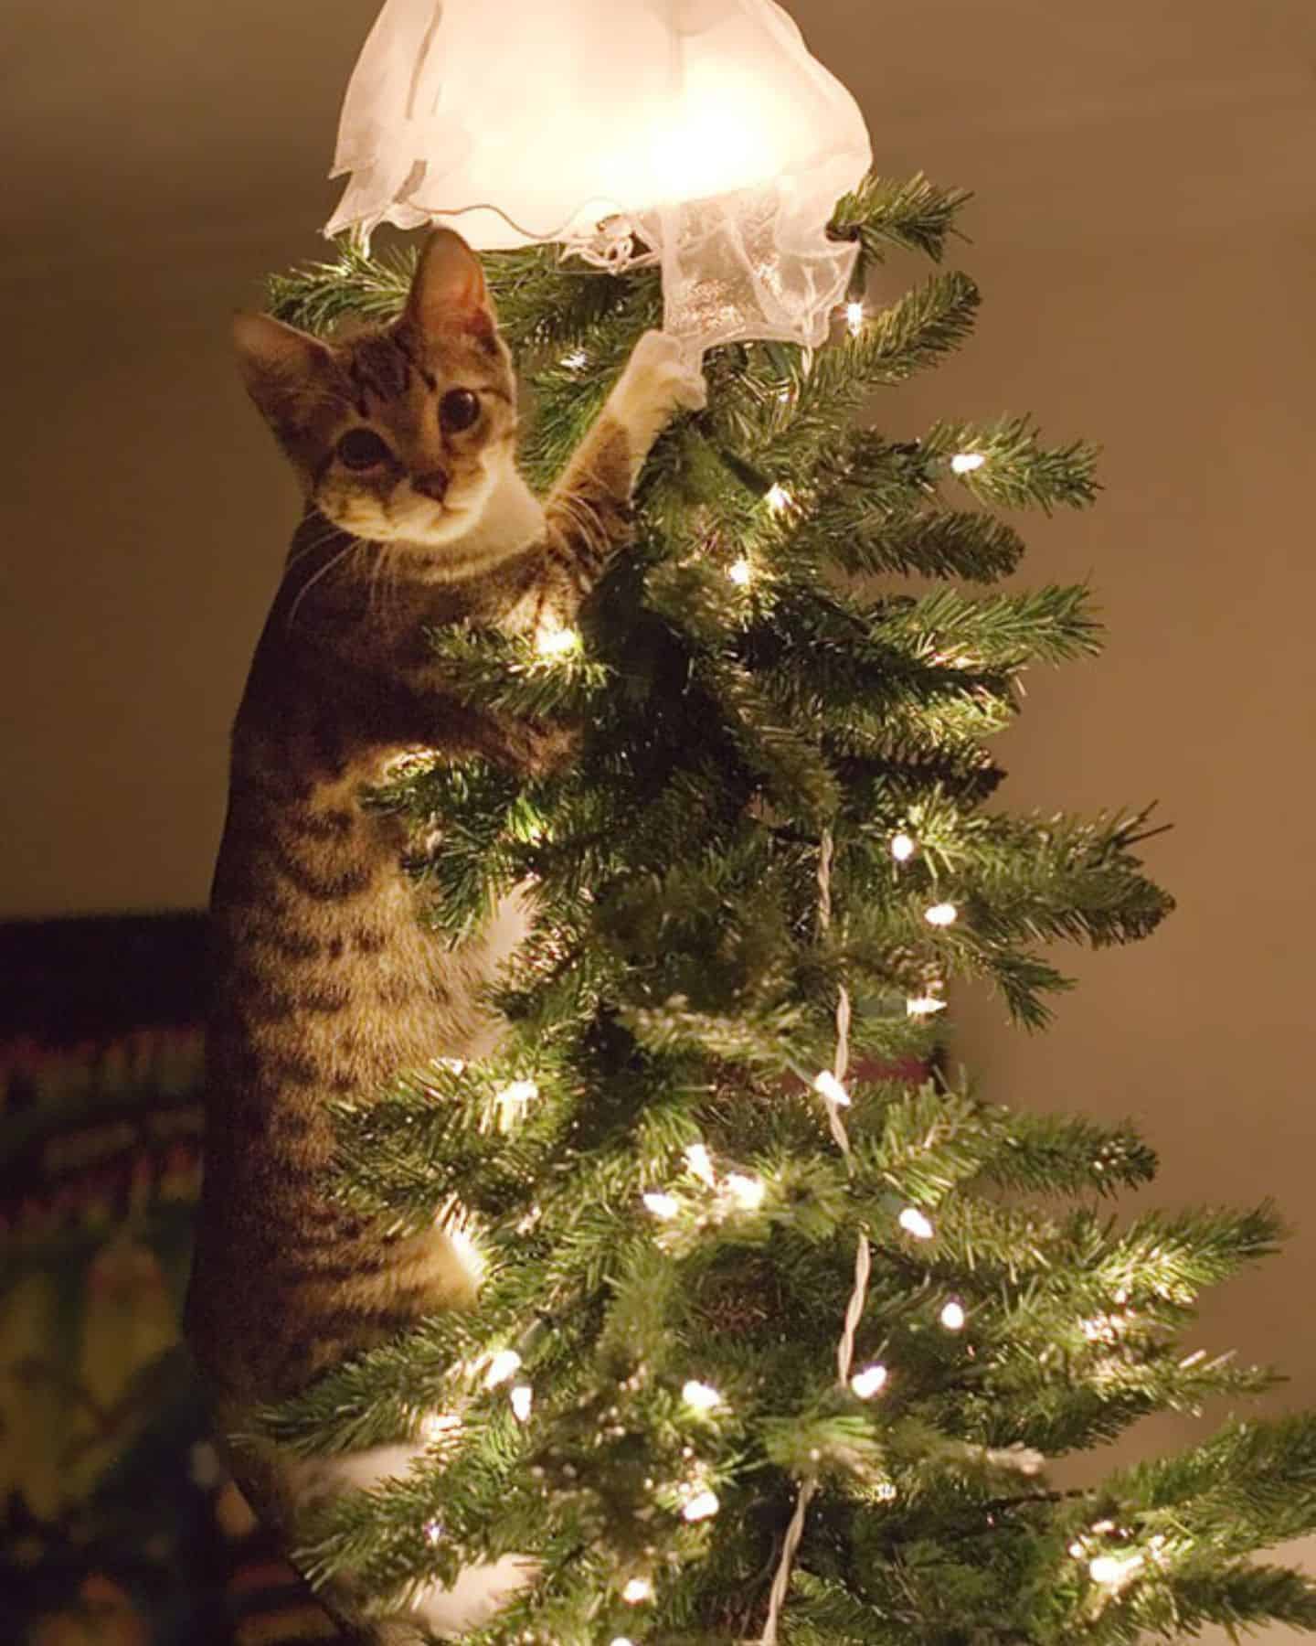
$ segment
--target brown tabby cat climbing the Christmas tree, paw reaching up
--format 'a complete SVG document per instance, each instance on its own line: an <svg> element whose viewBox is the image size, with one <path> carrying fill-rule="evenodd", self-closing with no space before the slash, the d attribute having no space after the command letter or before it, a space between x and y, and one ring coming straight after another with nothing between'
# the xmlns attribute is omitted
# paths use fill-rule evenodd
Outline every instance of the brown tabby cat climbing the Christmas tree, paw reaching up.
<svg viewBox="0 0 1316 1646"><path fill-rule="evenodd" d="M630 535L632 491L697 365L650 331L541 502L517 469L517 380L479 258L452 229L421 250L401 316L322 341L270 316L234 323L247 390L306 509L232 736L215 864L206 1172L186 1330L222 1435L426 1315L475 1304L439 1230L383 1236L326 1193L327 1101L497 1039L480 1004L525 907L449 950L418 920L406 830L359 793L415 749L513 772L568 756L561 731L459 703L426 627L566 627ZM293 1460L229 1447L253 1508L296 1541L319 1493L406 1472L419 1442ZM322 1600L344 1639L403 1643L477 1626L526 1580L503 1557L367 1618L350 1583Z"/></svg>

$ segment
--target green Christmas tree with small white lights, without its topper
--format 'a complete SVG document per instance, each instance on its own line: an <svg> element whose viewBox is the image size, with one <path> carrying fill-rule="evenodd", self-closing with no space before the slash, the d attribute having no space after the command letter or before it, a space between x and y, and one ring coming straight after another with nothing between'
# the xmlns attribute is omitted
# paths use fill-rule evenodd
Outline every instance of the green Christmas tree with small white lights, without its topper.
<svg viewBox="0 0 1316 1646"><path fill-rule="evenodd" d="M383 1600L533 1555L469 1636L489 1646L1316 1626L1316 1588L1252 1559L1316 1526L1316 1419L1048 1483L1148 1412L1273 1384L1183 1333L1280 1223L1119 1216L1155 1170L1132 1126L946 1068L952 978L1040 1029L1066 988L1048 945L1170 909L1147 810L994 803L1022 672L1099 647L1086 588L990 588L1023 553L997 510L1091 504L1092 448L1023 416L910 431L898 397L857 421L972 326L956 272L862 300L892 252L939 263L964 201L920 176L837 204L859 260L832 339L707 356L707 408L655 449L579 632L434 637L454 690L572 724L577 751L530 782L418 756L372 797L411 821L454 942L521 882L535 923L497 1053L339 1114L337 1192L441 1220L484 1281L268 1414L308 1452L428 1442L326 1509L313 1577ZM484 265L546 487L658 324L660 277L538 247ZM342 249L271 308L392 318L410 277L410 253Z"/></svg>

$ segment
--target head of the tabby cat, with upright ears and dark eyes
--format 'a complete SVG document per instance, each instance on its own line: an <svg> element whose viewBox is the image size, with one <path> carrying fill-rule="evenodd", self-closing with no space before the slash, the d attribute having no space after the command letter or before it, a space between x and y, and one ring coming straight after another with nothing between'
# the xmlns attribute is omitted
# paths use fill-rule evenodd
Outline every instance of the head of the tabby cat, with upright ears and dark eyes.
<svg viewBox="0 0 1316 1646"><path fill-rule="evenodd" d="M426 240L392 326L322 341L239 314L234 342L308 500L354 537L462 537L515 463L512 356L479 258L452 229Z"/></svg>

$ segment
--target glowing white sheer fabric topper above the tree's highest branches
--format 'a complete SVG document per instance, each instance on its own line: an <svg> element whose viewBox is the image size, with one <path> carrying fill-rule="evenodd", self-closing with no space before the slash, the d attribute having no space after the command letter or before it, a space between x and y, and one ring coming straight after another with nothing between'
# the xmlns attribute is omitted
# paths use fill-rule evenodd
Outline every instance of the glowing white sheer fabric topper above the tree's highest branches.
<svg viewBox="0 0 1316 1646"><path fill-rule="evenodd" d="M326 234L451 221L484 250L660 262L691 352L813 347L857 255L826 224L870 165L859 105L775 0L385 0Z"/></svg>

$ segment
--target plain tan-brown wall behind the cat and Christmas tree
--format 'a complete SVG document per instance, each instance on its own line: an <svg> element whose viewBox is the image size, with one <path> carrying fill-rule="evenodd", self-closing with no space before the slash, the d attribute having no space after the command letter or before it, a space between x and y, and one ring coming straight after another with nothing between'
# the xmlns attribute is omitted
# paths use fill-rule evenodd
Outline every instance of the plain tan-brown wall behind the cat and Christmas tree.
<svg viewBox="0 0 1316 1646"><path fill-rule="evenodd" d="M204 902L227 721L296 514L227 316L322 250L375 10L5 8L0 917ZM1135 1114L1165 1159L1148 1198L1275 1195L1293 1241L1211 1304L1201 1341L1281 1361L1275 1407L1316 1402L1316 13L791 10L882 171L977 191L956 255L984 290L977 337L885 395L883 426L1033 412L1105 448L1094 512L1028 522L1023 581L1091 578L1109 650L1030 678L1005 800L1158 798L1176 823L1150 848L1179 899L1165 930L1066 956L1082 988L1046 1037L964 999L957 1055L994 1098Z"/></svg>

